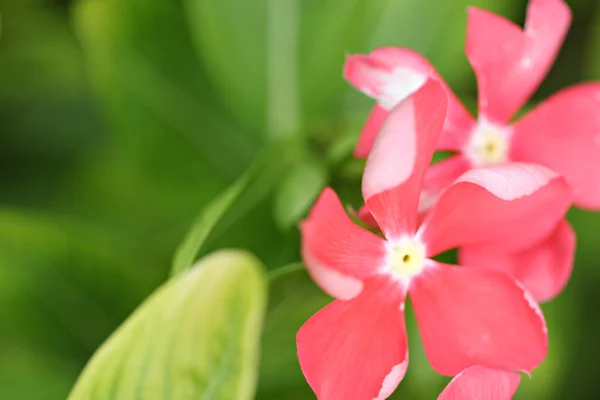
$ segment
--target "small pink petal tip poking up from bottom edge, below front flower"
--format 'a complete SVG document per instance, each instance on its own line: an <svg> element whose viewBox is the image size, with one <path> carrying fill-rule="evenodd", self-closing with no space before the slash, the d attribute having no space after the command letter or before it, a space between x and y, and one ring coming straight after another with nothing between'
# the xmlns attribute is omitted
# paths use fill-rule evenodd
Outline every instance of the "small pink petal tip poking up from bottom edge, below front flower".
<svg viewBox="0 0 600 400"><path fill-rule="evenodd" d="M438 400L510 400L520 381L516 372L469 367L452 379Z"/></svg>

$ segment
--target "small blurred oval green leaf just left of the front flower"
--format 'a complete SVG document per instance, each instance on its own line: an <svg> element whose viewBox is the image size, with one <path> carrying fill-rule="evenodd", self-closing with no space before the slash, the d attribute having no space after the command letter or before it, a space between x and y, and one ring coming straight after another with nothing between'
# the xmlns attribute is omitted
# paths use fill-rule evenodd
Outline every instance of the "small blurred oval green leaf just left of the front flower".
<svg viewBox="0 0 600 400"><path fill-rule="evenodd" d="M302 218L327 184L327 168L306 160L290 171L275 197L275 221L288 229Z"/></svg>

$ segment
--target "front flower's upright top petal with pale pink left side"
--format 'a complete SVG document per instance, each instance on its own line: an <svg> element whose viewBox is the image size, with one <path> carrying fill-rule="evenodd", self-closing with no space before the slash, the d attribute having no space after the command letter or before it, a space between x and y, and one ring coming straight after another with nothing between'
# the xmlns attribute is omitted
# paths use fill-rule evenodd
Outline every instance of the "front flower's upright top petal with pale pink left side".
<svg viewBox="0 0 600 400"><path fill-rule="evenodd" d="M369 210L388 239L414 233L425 169L446 113L446 94L429 80L390 113L362 181Z"/></svg>

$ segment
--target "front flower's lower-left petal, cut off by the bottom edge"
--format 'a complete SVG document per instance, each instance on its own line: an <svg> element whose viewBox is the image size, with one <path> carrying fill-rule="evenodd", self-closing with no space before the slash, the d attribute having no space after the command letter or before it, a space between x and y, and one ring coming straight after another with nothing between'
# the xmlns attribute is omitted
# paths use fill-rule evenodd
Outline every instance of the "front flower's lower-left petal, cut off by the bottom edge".
<svg viewBox="0 0 600 400"><path fill-rule="evenodd" d="M384 400L406 372L405 290L375 278L350 301L313 315L297 336L302 372L319 400Z"/></svg>

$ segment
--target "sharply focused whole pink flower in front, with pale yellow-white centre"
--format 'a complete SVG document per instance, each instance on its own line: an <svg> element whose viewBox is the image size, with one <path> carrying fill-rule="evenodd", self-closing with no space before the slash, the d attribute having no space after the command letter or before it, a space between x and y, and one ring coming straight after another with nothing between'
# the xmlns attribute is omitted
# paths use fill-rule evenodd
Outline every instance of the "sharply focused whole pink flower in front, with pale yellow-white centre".
<svg viewBox="0 0 600 400"><path fill-rule="evenodd" d="M301 224L306 267L336 298L297 335L302 371L319 400L382 400L393 392L408 365L407 294L440 374L473 365L530 371L546 355L543 315L519 283L431 257L466 244L527 246L563 217L570 188L533 164L473 169L420 221L423 175L445 112L444 89L428 81L392 110L375 141L362 193L385 239L354 224L330 188Z"/></svg>

